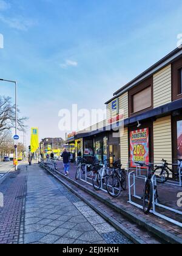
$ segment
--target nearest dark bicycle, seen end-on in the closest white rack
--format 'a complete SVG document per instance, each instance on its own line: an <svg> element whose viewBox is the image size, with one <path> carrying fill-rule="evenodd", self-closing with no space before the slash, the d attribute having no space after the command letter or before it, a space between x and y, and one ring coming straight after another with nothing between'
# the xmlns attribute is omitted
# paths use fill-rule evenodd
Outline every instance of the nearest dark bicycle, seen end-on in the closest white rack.
<svg viewBox="0 0 182 256"><path fill-rule="evenodd" d="M144 186L144 193L143 193L143 212L147 215L152 208L153 189L156 190L155 196L158 198L157 187L156 186L153 187L153 183L152 183L152 176L153 174L155 174L155 170L152 171L152 168L153 168L152 164L146 165L145 163L140 163L140 162L135 162L135 163L136 165L140 165L141 167L146 166L148 169L146 182Z"/></svg>

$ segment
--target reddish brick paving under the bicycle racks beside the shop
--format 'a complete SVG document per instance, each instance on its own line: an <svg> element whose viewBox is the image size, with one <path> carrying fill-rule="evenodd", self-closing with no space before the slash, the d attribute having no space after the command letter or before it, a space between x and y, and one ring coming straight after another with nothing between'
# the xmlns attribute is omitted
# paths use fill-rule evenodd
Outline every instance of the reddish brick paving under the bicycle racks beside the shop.
<svg viewBox="0 0 182 256"><path fill-rule="evenodd" d="M58 171L61 172L61 174L64 174L64 169L62 168L62 162L58 162ZM121 195L117 198L112 198L109 196L109 194L99 190L95 191L93 190L92 187L92 180L90 180L90 185L82 182L81 180L75 180L75 173L76 173L76 166L71 165L70 166L70 171L69 171L69 177L64 177L66 180L71 180L73 184L76 186L84 187L88 191L88 193L92 193L93 197L100 200L104 200L106 204L108 203L109 205L112 205L112 208L120 208L121 210L123 209L124 212L129 212L131 215L138 216L138 219L142 218L144 222L149 223L149 224L155 224L157 227L160 227L163 229L165 232L169 232L171 235L177 236L182 243L182 229L178 226L175 226L174 224L165 221L164 219L158 218L157 216L154 216L152 214L150 215L144 215L143 211L140 208L137 208L133 205L130 205L128 203L129 200L129 193L128 193L128 188L126 191L122 191ZM88 180L89 181L89 180ZM136 193L139 195L143 194L143 187L144 187L144 180L139 180L137 183L140 183L138 185L139 189L136 190ZM170 207L177 208L178 210L181 210L181 208L177 207L177 193L182 191L182 188L180 187L174 187L171 185L166 185L166 184L160 184L158 185L158 193L160 195L160 203L169 205ZM107 204L107 205L108 205ZM175 213L172 212L166 212L165 210L158 209L160 213L166 214L170 218L174 218L177 221L181 221L181 216L178 216ZM125 226L125 222L122 222L123 225ZM125 226L127 228L127 224ZM136 235L138 233L136 232ZM139 234L140 235L140 234Z"/></svg>

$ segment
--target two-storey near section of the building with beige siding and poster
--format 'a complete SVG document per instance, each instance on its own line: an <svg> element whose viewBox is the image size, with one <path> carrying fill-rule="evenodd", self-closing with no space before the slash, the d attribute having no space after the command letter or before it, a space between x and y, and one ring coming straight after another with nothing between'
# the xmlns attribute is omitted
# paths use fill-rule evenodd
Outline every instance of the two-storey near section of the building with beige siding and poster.
<svg viewBox="0 0 182 256"><path fill-rule="evenodd" d="M121 162L182 159L182 49L175 49L106 102L124 109Z"/></svg>

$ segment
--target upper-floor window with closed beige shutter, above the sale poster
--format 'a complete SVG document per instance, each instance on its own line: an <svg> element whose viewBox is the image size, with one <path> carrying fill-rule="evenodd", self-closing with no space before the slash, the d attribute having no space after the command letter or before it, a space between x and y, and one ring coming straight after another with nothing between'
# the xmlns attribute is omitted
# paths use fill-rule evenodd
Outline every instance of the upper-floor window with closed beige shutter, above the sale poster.
<svg viewBox="0 0 182 256"><path fill-rule="evenodd" d="M152 107L152 88L148 87L132 97L132 113Z"/></svg>

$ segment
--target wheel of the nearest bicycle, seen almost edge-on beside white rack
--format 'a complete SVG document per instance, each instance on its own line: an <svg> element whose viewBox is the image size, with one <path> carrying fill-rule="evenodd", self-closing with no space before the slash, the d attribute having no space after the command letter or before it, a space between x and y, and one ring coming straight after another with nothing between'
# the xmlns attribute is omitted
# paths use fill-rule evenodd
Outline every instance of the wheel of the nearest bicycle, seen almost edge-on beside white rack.
<svg viewBox="0 0 182 256"><path fill-rule="evenodd" d="M146 185L144 188L144 195L143 195L143 211L145 214L148 214L150 212L150 209L152 207L152 201L153 201L153 185L151 180L148 180L146 182Z"/></svg>

